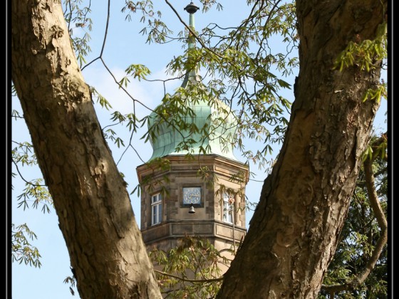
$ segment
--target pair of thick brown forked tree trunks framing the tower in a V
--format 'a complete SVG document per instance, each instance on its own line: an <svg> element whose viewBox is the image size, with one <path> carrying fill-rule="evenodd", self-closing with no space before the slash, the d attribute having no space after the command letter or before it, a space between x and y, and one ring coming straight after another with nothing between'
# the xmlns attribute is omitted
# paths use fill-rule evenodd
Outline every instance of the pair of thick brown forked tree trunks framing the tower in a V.
<svg viewBox="0 0 399 299"><path fill-rule="evenodd" d="M385 6L386 6L386 2ZM380 1L296 2L300 73L289 129L218 298L315 298L378 104L379 71L334 59L373 39ZM82 298L160 298L128 193L100 132L59 1L12 1L12 80Z"/></svg>

